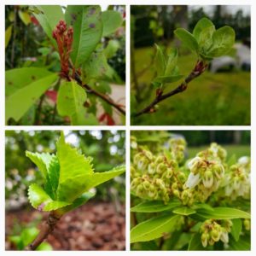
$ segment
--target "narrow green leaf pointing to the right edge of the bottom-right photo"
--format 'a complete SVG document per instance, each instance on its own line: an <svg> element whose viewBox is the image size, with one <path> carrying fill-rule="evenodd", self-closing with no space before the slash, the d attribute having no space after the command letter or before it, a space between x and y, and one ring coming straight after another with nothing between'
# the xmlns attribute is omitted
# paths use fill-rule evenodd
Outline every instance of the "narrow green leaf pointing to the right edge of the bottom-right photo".
<svg viewBox="0 0 256 256"><path fill-rule="evenodd" d="M208 209L199 209L196 211L196 215L201 218L214 219L251 218L250 213L229 207L216 207L213 208L213 211Z"/></svg>

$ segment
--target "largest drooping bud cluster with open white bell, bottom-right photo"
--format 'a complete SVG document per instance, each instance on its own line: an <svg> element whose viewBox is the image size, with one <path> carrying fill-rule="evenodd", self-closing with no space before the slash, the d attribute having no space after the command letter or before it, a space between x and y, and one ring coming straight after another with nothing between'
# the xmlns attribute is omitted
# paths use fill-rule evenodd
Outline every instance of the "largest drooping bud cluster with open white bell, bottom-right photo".
<svg viewBox="0 0 256 256"><path fill-rule="evenodd" d="M189 177L185 187L195 189L196 201L206 201L219 187L224 177L224 159L226 153L216 143L205 151L198 153L188 163Z"/></svg>

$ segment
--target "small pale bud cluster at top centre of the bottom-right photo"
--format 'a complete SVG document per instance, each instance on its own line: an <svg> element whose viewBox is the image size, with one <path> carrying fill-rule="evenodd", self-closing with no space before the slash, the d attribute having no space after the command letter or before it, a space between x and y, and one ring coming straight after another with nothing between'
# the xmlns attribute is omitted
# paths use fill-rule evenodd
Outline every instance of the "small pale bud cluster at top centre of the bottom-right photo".
<svg viewBox="0 0 256 256"><path fill-rule="evenodd" d="M177 163L181 163L185 158L185 148L187 146L183 137L171 138L169 140L171 149L171 155L173 160L177 160Z"/></svg>

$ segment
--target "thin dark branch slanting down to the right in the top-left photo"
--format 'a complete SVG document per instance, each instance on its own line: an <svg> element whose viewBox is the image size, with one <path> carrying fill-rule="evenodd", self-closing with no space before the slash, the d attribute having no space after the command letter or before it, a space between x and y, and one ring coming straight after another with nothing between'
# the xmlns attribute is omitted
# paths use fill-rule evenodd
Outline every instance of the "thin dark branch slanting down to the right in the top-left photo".
<svg viewBox="0 0 256 256"><path fill-rule="evenodd" d="M77 72L74 74L74 79L77 81L77 83L78 83L82 88L84 88L84 89L86 90L86 92L91 93L91 94L94 94L95 96L100 97L104 102L107 102L107 103L110 104L113 108L116 108L116 109L119 111L119 113L122 113L122 114L125 115L125 110L124 110L123 108L121 108L121 107L119 106L119 104L113 102L113 99L112 99L112 98L110 98L109 96L107 96L107 95L105 95L105 94L102 94L101 92L98 92L98 91L92 89L89 84L83 84L83 82L82 82L82 80L80 79L79 74L78 74Z"/></svg>

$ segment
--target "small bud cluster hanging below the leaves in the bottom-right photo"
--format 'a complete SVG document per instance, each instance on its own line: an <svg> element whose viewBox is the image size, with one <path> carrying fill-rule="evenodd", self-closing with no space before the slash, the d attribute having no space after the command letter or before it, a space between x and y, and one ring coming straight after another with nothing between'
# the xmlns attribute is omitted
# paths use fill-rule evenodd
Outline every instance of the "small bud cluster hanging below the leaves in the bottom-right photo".
<svg viewBox="0 0 256 256"><path fill-rule="evenodd" d="M231 226L230 219L207 219L200 229L202 246L207 247L207 245L213 245L217 241L223 241L225 244L229 243Z"/></svg>

